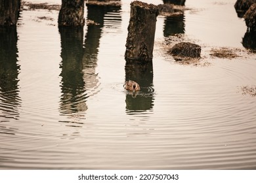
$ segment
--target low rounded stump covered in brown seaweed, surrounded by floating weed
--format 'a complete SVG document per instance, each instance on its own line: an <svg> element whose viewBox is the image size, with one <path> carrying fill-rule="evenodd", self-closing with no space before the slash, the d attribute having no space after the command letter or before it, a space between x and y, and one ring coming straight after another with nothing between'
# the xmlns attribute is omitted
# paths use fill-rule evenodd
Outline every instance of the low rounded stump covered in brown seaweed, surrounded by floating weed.
<svg viewBox="0 0 256 183"><path fill-rule="evenodd" d="M190 42L180 42L175 44L169 53L172 56L186 57L186 58L200 58L201 46Z"/></svg>

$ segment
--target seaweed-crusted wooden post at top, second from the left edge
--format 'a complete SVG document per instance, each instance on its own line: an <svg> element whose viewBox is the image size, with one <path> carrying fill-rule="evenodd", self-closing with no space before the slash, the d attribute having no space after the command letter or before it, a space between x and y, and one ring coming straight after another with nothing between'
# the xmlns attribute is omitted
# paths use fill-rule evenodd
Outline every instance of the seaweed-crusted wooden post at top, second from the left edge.
<svg viewBox="0 0 256 183"><path fill-rule="evenodd" d="M62 0L60 12L58 14L59 26L83 26L85 0Z"/></svg>

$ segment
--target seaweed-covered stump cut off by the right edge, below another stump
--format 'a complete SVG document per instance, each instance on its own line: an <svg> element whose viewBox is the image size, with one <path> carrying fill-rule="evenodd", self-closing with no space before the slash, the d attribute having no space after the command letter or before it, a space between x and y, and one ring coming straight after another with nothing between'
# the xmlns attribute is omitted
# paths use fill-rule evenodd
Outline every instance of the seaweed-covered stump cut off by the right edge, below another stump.
<svg viewBox="0 0 256 183"><path fill-rule="evenodd" d="M256 31L256 3L251 5L247 12L244 14L245 24L247 25L248 31Z"/></svg>

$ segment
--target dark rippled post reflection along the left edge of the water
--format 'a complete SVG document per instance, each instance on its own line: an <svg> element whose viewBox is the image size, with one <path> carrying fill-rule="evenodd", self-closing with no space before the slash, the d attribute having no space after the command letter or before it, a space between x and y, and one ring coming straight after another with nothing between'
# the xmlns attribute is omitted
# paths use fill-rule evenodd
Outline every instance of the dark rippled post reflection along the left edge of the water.
<svg viewBox="0 0 256 183"><path fill-rule="evenodd" d="M16 27L0 27L0 117L19 118L18 72ZM0 122L3 122L0 119Z"/></svg>

